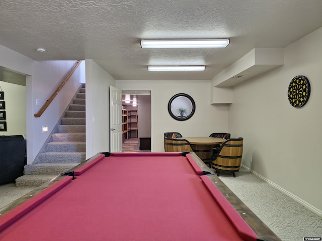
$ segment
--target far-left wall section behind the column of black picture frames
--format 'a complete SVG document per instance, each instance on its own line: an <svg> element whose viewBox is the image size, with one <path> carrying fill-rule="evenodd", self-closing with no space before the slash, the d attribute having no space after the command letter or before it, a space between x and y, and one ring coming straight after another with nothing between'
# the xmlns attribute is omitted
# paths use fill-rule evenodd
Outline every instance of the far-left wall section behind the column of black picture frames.
<svg viewBox="0 0 322 241"><path fill-rule="evenodd" d="M0 87L4 91L7 131L0 132L1 136L23 135L26 138L26 86L12 84L0 80ZM1 91L0 89L0 91Z"/></svg>

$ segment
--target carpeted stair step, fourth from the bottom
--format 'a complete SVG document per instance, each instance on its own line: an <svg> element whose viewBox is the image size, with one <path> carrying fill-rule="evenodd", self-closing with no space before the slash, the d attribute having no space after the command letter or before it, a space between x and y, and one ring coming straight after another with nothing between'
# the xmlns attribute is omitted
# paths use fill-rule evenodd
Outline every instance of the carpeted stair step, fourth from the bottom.
<svg viewBox="0 0 322 241"><path fill-rule="evenodd" d="M47 152L86 152L85 142L49 142Z"/></svg>

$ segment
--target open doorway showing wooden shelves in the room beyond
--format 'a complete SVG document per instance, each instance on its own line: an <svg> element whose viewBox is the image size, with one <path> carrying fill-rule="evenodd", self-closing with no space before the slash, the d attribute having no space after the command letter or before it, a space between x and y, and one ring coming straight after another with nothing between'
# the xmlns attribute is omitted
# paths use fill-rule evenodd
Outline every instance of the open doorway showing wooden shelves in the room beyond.
<svg viewBox="0 0 322 241"><path fill-rule="evenodd" d="M151 151L151 91L122 91L122 152Z"/></svg>

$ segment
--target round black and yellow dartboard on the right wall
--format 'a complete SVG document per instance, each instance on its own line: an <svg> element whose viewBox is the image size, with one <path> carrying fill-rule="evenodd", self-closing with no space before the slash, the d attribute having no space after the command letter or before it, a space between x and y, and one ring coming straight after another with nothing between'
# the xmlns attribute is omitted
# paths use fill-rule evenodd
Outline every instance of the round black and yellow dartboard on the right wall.
<svg viewBox="0 0 322 241"><path fill-rule="evenodd" d="M310 83L303 75L295 76L287 90L288 101L295 108L302 107L306 104L310 96Z"/></svg>

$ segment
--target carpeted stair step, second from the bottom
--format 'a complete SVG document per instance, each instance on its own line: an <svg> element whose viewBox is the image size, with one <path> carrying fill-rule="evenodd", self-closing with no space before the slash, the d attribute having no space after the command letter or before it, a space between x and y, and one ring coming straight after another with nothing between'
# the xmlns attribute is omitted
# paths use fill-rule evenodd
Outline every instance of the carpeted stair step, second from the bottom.
<svg viewBox="0 0 322 241"><path fill-rule="evenodd" d="M76 165L78 163L37 163L25 165L25 175L58 175Z"/></svg>

